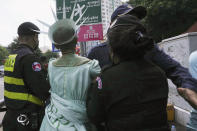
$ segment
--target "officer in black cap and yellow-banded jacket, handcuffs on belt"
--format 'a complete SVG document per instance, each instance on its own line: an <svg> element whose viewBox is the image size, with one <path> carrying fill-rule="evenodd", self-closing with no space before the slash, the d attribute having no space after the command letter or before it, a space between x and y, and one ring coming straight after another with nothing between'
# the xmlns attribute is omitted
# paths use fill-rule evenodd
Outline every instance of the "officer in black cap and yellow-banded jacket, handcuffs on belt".
<svg viewBox="0 0 197 131"><path fill-rule="evenodd" d="M4 131L38 131L49 97L49 83L40 60L39 28L31 22L18 27L19 46L5 62L4 99L7 112L3 119Z"/></svg>

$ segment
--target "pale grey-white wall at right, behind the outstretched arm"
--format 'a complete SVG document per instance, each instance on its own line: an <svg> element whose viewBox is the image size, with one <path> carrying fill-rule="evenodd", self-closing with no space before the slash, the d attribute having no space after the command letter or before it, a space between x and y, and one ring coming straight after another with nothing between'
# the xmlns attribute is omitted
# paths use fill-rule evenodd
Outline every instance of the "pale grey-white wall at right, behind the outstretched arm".
<svg viewBox="0 0 197 131"><path fill-rule="evenodd" d="M163 40L159 47L172 58L180 62L184 67L188 67L189 55L197 50L197 32L187 33ZM169 80L169 103L174 104L186 112L191 111L192 107L179 96L176 86ZM178 108L178 109L179 109ZM177 122L185 125L188 121L189 114L179 110L178 116L175 116ZM183 114L183 115L181 115ZM175 114L176 115L176 114Z"/></svg>

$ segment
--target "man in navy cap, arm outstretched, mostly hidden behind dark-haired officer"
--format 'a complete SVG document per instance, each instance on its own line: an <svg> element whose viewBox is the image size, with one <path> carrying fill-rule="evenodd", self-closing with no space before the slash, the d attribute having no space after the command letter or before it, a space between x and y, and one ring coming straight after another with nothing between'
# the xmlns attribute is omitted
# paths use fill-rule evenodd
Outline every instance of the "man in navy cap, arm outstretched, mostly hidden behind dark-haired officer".
<svg viewBox="0 0 197 131"><path fill-rule="evenodd" d="M146 9L142 6L133 8L131 5L128 4L121 5L113 12L111 16L111 25L113 25L117 17L125 14L134 15L137 16L139 19L143 19L146 16ZM88 58L97 59L101 63L110 63L110 59L108 57L108 46L106 45L101 47L93 48L89 52ZM105 48L105 50L108 50L108 52L103 51L103 48ZM165 52L160 50L156 44L154 45L153 50L149 54L147 54L145 58L159 66L166 73L167 77L172 80L172 82L177 87L182 87L178 88L177 90L179 91L180 95L185 98L185 100L190 102L190 104L193 103L193 107L197 105L197 95L195 93L197 92L197 80L192 78L187 68L181 66L180 63L178 63ZM197 108L197 106L195 107Z"/></svg>

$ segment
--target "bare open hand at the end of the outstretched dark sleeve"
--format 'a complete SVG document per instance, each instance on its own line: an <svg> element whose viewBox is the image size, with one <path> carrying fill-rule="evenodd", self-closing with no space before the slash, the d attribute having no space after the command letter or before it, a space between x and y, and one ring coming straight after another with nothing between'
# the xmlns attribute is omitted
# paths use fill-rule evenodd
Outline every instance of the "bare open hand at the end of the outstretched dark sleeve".
<svg viewBox="0 0 197 131"><path fill-rule="evenodd" d="M188 88L178 88L179 95L181 95L194 109L197 110L197 93Z"/></svg>

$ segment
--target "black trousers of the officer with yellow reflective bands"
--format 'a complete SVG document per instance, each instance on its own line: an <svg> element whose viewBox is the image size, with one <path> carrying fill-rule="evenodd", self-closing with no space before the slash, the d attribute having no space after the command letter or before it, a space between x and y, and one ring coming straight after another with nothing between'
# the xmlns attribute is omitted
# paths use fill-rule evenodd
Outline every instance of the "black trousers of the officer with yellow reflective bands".
<svg viewBox="0 0 197 131"><path fill-rule="evenodd" d="M7 111L3 118L3 131L39 131L39 129L31 129L29 126L23 126L17 122L19 113Z"/></svg>

